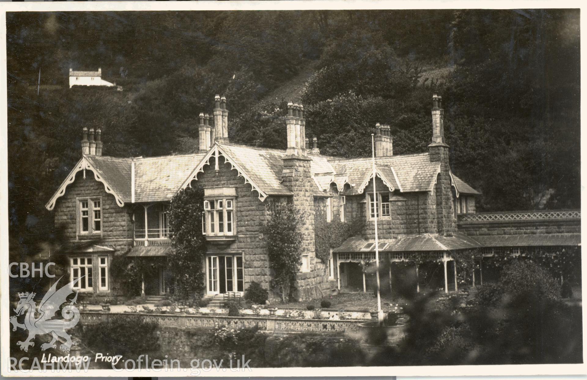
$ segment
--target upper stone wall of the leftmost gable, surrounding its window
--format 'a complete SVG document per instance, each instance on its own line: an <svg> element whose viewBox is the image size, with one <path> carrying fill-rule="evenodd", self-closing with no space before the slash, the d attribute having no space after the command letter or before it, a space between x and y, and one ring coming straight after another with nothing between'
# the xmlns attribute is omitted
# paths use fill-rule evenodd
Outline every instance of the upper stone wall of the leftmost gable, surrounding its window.
<svg viewBox="0 0 587 380"><path fill-rule="evenodd" d="M102 203L102 233L82 235L79 234L77 224L78 199L100 198ZM90 170L86 170L86 178L83 172L76 175L75 181L70 184L65 194L55 204L55 226L65 226L65 236L69 240L89 240L100 238L100 245L114 248L117 251L126 251L132 246L133 224L128 207L118 206L112 194L106 193L104 185L97 181Z"/></svg>

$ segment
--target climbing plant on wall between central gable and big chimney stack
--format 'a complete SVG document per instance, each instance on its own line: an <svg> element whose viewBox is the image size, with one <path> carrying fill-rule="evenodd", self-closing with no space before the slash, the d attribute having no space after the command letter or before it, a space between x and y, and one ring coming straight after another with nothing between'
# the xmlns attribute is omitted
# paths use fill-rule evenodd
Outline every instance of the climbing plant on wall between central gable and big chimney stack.
<svg viewBox="0 0 587 380"><path fill-rule="evenodd" d="M302 216L293 204L279 201L268 203L267 211L269 218L263 234L266 236L269 268L273 271L271 285L286 301L292 295L293 283L302 264L302 236L298 228Z"/></svg>

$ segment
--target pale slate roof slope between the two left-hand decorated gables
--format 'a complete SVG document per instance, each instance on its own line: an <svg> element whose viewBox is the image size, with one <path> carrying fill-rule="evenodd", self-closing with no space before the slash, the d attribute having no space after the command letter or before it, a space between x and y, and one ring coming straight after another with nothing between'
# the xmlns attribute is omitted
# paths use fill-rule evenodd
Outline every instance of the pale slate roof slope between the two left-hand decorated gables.
<svg viewBox="0 0 587 380"><path fill-rule="evenodd" d="M135 159L134 201L170 200L205 153ZM127 177L130 184L130 176Z"/></svg>

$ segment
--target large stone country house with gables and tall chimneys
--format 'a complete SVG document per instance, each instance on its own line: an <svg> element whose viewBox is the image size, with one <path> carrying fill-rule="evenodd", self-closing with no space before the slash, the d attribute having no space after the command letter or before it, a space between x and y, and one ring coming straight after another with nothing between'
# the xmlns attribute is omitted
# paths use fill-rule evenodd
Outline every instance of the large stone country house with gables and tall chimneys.
<svg viewBox="0 0 587 380"><path fill-rule="evenodd" d="M392 287L394 277L418 274L417 266L393 268L391 263L424 253L430 265L422 267L418 284L450 291L457 289L454 253L481 249L490 256L495 250L580 245L580 211L476 214L480 193L450 169L443 114L441 98L434 95L431 143L427 152L417 154L394 156L390 127L376 125L373 170L372 157L323 156L315 138L311 148L303 106L297 103L288 104L286 150L232 144L226 99L216 96L212 116L200 113L197 154L107 157L101 131L84 129L82 158L46 208L54 211L56 225L65 224L73 243L99 238L99 244L86 244L69 257L70 277L86 275L79 290L98 294L112 292L114 255L150 260L153 271L143 276L143 294L170 291L165 257L173 247L167 208L177 191L195 184L204 188L208 296L242 294L252 281L269 288L262 230L269 218L266 204L274 200L289 201L304 215L295 285L300 299L341 289L367 291L373 275L365 268L376 248L380 261L389 264L385 286ZM319 224L326 223L328 230L328 223L357 221L364 224L360 233L318 257ZM475 272L471 275L475 283L483 281L481 266L477 280Z"/></svg>

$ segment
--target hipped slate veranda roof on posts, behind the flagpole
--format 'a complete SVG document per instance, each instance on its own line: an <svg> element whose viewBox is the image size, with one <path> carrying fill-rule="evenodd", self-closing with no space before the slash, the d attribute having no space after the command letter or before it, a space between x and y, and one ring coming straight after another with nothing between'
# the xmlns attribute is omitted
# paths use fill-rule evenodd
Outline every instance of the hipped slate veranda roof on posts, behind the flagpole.
<svg viewBox="0 0 587 380"><path fill-rule="evenodd" d="M375 246L370 250L363 250L367 243L375 243L375 240L364 240L359 237L351 237L345 240L333 252L369 252L375 251ZM380 239L379 243L387 243L380 252L410 252L410 251L452 251L479 247L477 241L461 233L453 236L433 236L430 234L403 235L394 239Z"/></svg>

